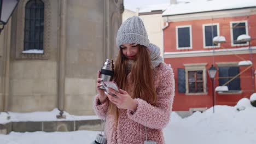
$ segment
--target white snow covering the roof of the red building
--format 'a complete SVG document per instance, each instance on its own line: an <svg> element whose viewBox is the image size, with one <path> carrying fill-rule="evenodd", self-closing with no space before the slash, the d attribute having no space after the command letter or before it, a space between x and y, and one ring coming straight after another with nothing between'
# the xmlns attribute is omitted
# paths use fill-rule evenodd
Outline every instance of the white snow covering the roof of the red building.
<svg viewBox="0 0 256 144"><path fill-rule="evenodd" d="M256 7L255 0L191 0L189 3L178 3L168 6L162 16L200 13L237 8Z"/></svg>

